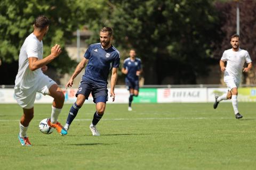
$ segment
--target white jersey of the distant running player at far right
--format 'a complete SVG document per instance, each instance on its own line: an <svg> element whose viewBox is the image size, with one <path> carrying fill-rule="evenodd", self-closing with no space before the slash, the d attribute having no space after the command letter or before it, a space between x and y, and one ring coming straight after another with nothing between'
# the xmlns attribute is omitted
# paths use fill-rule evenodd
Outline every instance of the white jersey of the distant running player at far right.
<svg viewBox="0 0 256 170"><path fill-rule="evenodd" d="M221 60L225 62L227 61L224 76L231 76L238 82L241 81L244 63L252 62L249 53L241 48L239 48L237 52L234 52L232 48L225 50Z"/></svg>

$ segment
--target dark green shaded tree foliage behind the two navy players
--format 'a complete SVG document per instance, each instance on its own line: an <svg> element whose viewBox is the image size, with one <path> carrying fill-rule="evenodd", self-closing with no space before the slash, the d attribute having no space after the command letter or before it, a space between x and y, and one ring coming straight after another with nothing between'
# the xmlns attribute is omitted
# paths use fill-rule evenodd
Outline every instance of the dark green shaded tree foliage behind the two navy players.
<svg viewBox="0 0 256 170"><path fill-rule="evenodd" d="M166 77L175 79L168 83L196 83L197 75L207 75L219 26L212 1L112 0L108 4L110 12L102 18L114 28L118 49L137 49L146 83L161 84Z"/></svg>

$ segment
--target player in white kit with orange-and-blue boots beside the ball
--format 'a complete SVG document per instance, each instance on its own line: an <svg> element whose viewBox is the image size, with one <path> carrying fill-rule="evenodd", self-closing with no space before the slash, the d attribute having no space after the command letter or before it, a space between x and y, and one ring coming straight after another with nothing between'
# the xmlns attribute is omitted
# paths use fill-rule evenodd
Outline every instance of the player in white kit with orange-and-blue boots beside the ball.
<svg viewBox="0 0 256 170"><path fill-rule="evenodd" d="M36 92L49 95L54 98L52 103L51 119L47 122L61 135L67 131L57 122L61 112L65 96L62 90L52 79L47 77L43 71L47 70L46 64L52 62L61 53L59 45L51 49L51 54L43 58L43 37L49 30L49 19L40 15L34 21L34 31L24 41L19 55L19 70L15 79L15 97L18 104L23 108L23 115L20 119L19 141L22 146L31 146L27 137L29 122L34 117L34 101Z"/></svg>

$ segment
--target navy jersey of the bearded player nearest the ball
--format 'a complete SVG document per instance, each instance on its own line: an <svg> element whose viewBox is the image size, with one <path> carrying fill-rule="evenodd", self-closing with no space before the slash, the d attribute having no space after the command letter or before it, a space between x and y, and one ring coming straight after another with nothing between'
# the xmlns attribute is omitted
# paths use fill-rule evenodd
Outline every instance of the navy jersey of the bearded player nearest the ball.
<svg viewBox="0 0 256 170"><path fill-rule="evenodd" d="M118 50L113 46L103 49L100 43L92 44L86 50L84 57L89 61L82 80L107 87L110 70L112 67L119 67L120 56Z"/></svg>

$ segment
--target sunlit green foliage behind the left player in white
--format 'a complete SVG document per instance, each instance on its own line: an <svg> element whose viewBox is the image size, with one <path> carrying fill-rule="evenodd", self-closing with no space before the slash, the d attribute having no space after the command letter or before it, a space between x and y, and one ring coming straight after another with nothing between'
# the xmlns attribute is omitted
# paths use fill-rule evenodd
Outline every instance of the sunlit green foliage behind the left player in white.
<svg viewBox="0 0 256 170"><path fill-rule="evenodd" d="M62 54L50 63L58 72L65 73L76 63L70 60L65 44L72 38L72 33L82 21L76 1L9 1L0 2L0 56L4 62L18 60L19 49L25 38L33 32L33 21L38 15L45 15L51 20L50 30L44 41L44 56L51 52L51 47L60 44ZM79 11L79 10L78 10ZM74 20L75 19L75 20Z"/></svg>

